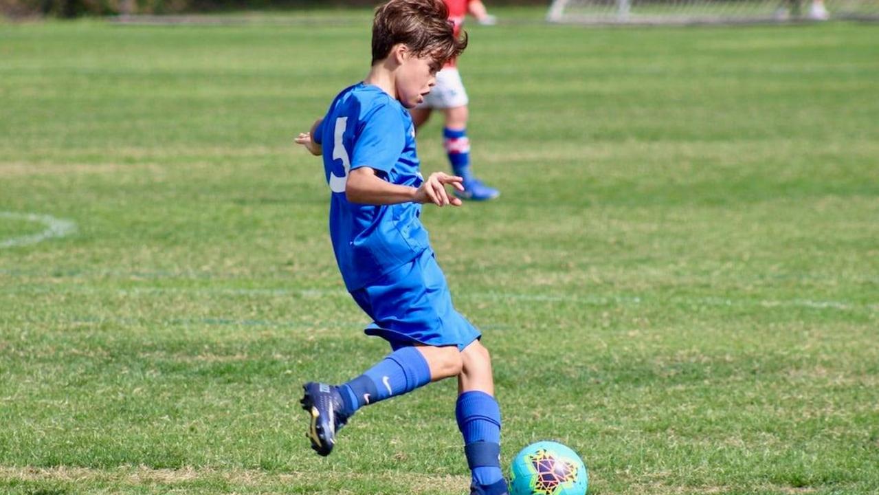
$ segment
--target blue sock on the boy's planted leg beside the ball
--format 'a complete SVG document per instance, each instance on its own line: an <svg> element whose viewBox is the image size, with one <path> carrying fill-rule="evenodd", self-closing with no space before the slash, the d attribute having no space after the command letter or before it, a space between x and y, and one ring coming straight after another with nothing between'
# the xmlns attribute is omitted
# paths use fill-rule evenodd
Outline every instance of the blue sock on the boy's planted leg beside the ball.
<svg viewBox="0 0 879 495"><path fill-rule="evenodd" d="M478 390L458 396L454 409L464 437L464 453L473 482L482 486L504 478L500 469L500 408L498 401Z"/></svg>

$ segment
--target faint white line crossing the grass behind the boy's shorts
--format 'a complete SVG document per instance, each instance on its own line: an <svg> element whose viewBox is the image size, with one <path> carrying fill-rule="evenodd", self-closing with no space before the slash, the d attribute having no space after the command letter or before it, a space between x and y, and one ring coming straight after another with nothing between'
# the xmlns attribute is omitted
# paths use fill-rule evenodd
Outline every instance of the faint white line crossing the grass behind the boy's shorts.
<svg viewBox="0 0 879 495"><path fill-rule="evenodd" d="M323 299L331 297L349 298L347 292L340 289L286 289L286 288L89 288L89 287L40 287L40 288L9 288L0 289L5 293L37 293L57 294L63 292L75 292L85 294L116 294L116 295L152 295L152 294L201 294L201 295L252 295L252 296L294 296L302 299ZM687 297L672 295L668 298L638 295L541 295L519 294L499 291L460 291L454 299L475 299L492 302L548 302L548 303L574 303L584 306L637 306L645 302L673 303L691 306L727 306L739 308L806 308L806 309L835 309L849 311L867 309L879 311L879 302L849 302L849 301L825 301L815 299L750 299L731 297Z"/></svg>

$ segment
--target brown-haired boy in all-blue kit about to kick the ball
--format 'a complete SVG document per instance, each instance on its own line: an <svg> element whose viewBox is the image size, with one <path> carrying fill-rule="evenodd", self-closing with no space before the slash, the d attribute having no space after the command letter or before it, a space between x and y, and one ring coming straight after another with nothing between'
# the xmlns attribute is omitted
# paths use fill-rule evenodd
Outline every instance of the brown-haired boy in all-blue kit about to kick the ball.
<svg viewBox="0 0 879 495"><path fill-rule="evenodd" d="M329 455L355 411L457 376L455 408L472 474L471 495L506 495L500 469L500 410L480 332L452 306L421 205L461 206L446 186L461 177L422 178L408 108L424 100L437 71L467 46L439 0L390 0L375 11L373 62L296 142L323 155L331 190L330 234L345 288L372 317L366 333L392 353L350 382L309 382L311 447Z"/></svg>

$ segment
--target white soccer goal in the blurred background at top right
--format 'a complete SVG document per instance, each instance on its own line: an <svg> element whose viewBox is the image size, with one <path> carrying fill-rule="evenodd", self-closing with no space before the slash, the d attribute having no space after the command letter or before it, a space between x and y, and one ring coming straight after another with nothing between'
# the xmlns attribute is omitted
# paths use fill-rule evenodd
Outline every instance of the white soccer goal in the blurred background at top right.
<svg viewBox="0 0 879 495"><path fill-rule="evenodd" d="M736 24L879 20L879 0L552 0L549 22L573 24Z"/></svg>

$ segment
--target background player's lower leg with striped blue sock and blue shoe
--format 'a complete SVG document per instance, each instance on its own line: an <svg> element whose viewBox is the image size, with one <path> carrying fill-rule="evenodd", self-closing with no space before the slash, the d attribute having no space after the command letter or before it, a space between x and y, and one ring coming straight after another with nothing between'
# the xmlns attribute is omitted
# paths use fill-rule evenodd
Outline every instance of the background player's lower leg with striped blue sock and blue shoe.
<svg viewBox="0 0 879 495"><path fill-rule="evenodd" d="M470 140L467 137L469 110L466 105L443 109L446 127L443 128L443 147L457 176L464 178L464 191L457 193L465 200L492 200L500 195L497 189L485 186L470 170Z"/></svg>

